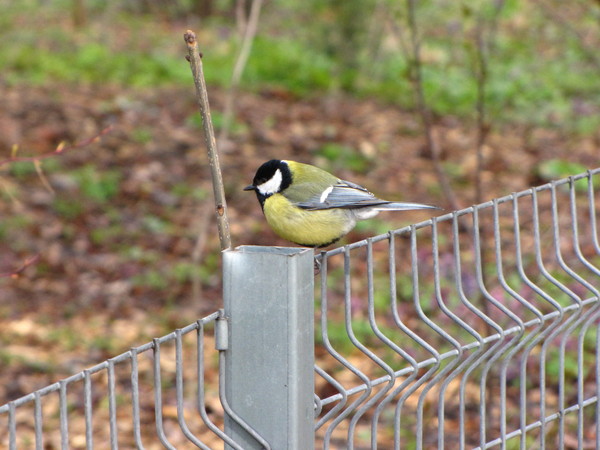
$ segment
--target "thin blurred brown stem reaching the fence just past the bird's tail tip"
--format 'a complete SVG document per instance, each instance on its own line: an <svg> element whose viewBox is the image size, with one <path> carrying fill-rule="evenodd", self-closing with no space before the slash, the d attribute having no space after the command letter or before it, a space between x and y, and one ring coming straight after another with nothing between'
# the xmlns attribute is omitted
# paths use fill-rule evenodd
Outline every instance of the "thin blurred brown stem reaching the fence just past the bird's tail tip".
<svg viewBox="0 0 600 450"><path fill-rule="evenodd" d="M421 44L419 42L418 30L417 30L417 21L415 19L415 0L407 0L407 9L408 9L408 28L410 30L410 40L412 44L412 55L409 58L410 62L410 79L415 87L415 92L417 95L417 109L419 111L419 115L421 117L421 122L423 123L423 129L425 132L425 140L427 141L427 150L429 153L429 157L431 158L431 162L433 164L433 169L437 175L437 178L442 186L444 194L446 195L446 199L448 203L450 203L450 207L453 210L460 209L458 201L456 199L456 194L448 181L448 177L446 176L446 172L444 172L444 168L440 162L440 149L437 144L437 141L433 137L433 125L431 123L431 114L429 109L427 108L427 103L425 101L425 93L423 89L423 74L421 68Z"/></svg>

